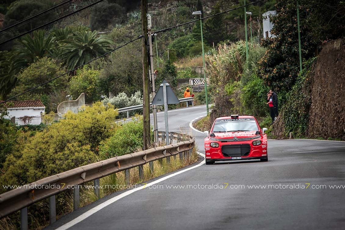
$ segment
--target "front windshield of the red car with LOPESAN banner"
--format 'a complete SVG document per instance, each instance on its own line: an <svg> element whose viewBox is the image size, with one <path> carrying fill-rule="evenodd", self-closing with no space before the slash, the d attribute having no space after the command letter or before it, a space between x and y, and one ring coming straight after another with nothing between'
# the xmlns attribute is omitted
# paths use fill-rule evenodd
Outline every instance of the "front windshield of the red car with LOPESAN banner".
<svg viewBox="0 0 345 230"><path fill-rule="evenodd" d="M238 119L218 119L213 127L212 132L240 132L240 131L256 131L254 118L238 118Z"/></svg>

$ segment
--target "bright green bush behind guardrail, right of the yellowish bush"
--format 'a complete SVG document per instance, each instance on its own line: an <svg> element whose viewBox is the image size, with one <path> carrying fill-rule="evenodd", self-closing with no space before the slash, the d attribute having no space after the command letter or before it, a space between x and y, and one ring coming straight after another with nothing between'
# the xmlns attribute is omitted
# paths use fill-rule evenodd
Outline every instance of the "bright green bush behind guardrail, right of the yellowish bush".
<svg viewBox="0 0 345 230"><path fill-rule="evenodd" d="M133 119L123 124L116 133L103 141L99 147L102 160L137 152L142 149L143 139L142 119ZM153 133L151 132L151 137Z"/></svg>

